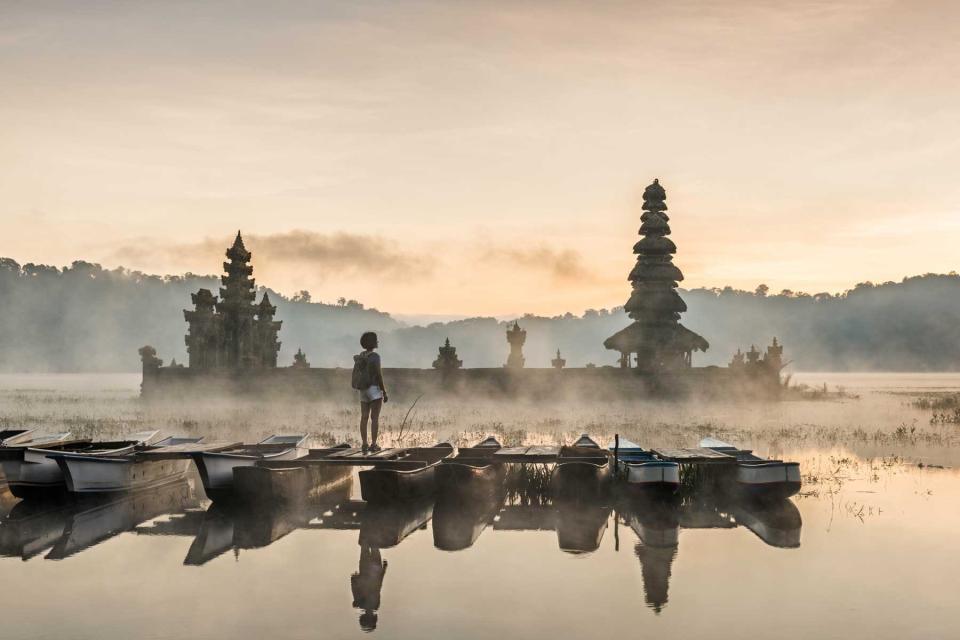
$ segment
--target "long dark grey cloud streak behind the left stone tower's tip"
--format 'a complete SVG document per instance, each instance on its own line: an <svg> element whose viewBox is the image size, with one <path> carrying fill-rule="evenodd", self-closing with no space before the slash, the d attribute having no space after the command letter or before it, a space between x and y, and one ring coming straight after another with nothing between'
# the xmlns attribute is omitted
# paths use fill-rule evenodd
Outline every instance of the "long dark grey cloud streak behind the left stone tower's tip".
<svg viewBox="0 0 960 640"><path fill-rule="evenodd" d="M359 275L407 278L429 274L434 260L396 247L379 236L354 233L316 233L293 230L283 233L249 234L244 244L253 253L253 264L258 271L297 265L303 269L329 275ZM209 262L211 271L217 271L218 260L232 238L204 238L195 243L157 244L155 241L128 243L113 250L120 261L142 264L163 262Z"/></svg>

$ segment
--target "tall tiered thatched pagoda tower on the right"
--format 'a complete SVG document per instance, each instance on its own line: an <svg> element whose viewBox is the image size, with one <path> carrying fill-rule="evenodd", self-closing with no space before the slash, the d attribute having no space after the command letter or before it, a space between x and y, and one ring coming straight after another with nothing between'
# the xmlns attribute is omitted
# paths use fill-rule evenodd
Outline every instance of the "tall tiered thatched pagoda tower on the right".
<svg viewBox="0 0 960 640"><path fill-rule="evenodd" d="M620 366L647 372L690 367L694 351L707 341L680 324L687 305L676 289L683 273L673 264L677 245L670 235L667 192L654 180L643 192L640 241L633 246L637 264L628 276L633 292L624 310L633 324L607 338L603 346L620 352ZM635 361L631 360L635 357Z"/></svg>

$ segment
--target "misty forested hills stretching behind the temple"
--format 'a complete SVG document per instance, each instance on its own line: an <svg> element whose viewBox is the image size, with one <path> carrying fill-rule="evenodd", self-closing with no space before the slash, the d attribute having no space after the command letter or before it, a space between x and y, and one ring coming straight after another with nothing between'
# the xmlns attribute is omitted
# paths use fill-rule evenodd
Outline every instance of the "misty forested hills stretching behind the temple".
<svg viewBox="0 0 960 640"><path fill-rule="evenodd" d="M137 349L153 345L165 362L186 360L182 310L190 294L217 293L213 276L153 276L74 262L58 269L0 258L0 369L136 371ZM283 321L280 362L302 347L313 366L351 364L364 330L381 335L385 363L428 367L449 337L464 366L500 366L508 351L506 322L472 318L407 327L375 309L341 299L293 299L269 290ZM799 370L960 370L960 276L925 275L903 282L860 284L844 294L769 295L726 289L681 292L683 322L710 341L694 363L725 364L738 348L761 348L776 336ZM258 293L258 296L262 291ZM524 316L527 366L545 367L559 348L568 366L613 364L604 338L629 323L622 309L581 316Z"/></svg>

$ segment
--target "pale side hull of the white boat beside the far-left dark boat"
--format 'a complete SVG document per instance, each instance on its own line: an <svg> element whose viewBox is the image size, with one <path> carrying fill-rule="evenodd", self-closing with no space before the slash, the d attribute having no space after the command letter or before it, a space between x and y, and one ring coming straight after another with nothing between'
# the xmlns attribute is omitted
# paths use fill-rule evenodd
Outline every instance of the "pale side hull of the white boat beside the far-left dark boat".
<svg viewBox="0 0 960 640"><path fill-rule="evenodd" d="M97 456L58 456L70 493L115 493L161 486L183 478L189 460L135 460Z"/></svg>

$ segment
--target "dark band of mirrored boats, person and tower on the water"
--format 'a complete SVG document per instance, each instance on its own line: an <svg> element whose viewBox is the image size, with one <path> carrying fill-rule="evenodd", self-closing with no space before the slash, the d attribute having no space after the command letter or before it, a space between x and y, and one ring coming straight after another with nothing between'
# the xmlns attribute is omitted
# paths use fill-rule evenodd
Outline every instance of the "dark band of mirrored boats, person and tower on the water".
<svg viewBox="0 0 960 640"><path fill-rule="evenodd" d="M556 494L550 470L543 466L518 467L484 482L488 484L469 491L444 491L387 505L352 499L353 480L331 487L309 503L285 507L211 505L190 481L114 499L22 501L0 520L0 554L26 560L46 553L47 559L62 559L133 531L143 539L189 538L183 564L200 567L226 554L239 562L242 553L270 547L294 532L320 536L324 531L354 531L357 562L340 579L343 588L349 583L359 627L372 631L379 622L390 566L387 556L426 529L432 529L433 546L445 552L463 553L482 535L531 531L552 532L560 551L584 556L601 549L612 526L612 546L619 550L626 537L625 548L632 549L639 563L644 602L658 614L669 602L684 530L745 527L772 547L800 545L800 512L789 500L766 504L717 496L657 500L615 493L602 501L569 499ZM323 543L316 539L317 545ZM408 559L396 564L401 557L393 559L391 571L398 584L403 584L402 576L424 566Z"/></svg>

